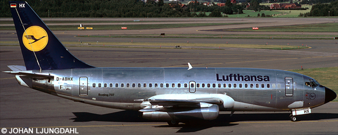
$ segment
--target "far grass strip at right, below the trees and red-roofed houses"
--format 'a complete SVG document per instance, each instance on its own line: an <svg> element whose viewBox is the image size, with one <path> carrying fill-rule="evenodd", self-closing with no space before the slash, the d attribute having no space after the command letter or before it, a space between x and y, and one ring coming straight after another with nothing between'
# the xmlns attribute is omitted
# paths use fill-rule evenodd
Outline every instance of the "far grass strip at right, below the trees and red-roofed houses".
<svg viewBox="0 0 338 135"><path fill-rule="evenodd" d="M337 32L338 22L337 23L308 24L308 25L293 25L293 26L259 27L258 30L252 30L252 28L226 29L224 31Z"/></svg>

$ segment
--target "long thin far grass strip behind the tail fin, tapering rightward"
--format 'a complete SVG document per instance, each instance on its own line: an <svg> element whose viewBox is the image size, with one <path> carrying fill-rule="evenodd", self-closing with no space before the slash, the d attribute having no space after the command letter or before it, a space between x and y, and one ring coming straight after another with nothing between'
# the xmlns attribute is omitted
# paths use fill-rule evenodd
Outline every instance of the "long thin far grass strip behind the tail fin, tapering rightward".
<svg viewBox="0 0 338 135"><path fill-rule="evenodd" d="M85 27L93 27L93 30L121 30L121 27L127 27L128 30L142 29L160 29L160 28L179 28L179 27L196 27L196 26L215 26L215 25L232 25L244 23L202 23L202 24L145 24L145 25L86 25ZM60 25L48 26L51 30L78 30L79 25ZM14 26L0 26L0 30L15 30Z"/></svg>

